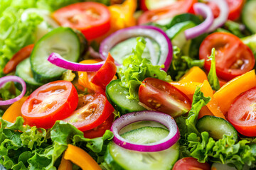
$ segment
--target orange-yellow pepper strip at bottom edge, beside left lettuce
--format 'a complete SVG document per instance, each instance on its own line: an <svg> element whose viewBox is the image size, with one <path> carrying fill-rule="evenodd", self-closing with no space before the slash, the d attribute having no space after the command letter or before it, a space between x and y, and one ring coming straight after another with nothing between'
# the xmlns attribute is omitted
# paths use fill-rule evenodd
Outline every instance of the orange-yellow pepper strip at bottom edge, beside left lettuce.
<svg viewBox="0 0 256 170"><path fill-rule="evenodd" d="M83 170L101 170L100 166L92 159L90 154L87 154L83 149L75 147L74 145L68 145L64 159L68 159L74 164L77 164Z"/></svg>

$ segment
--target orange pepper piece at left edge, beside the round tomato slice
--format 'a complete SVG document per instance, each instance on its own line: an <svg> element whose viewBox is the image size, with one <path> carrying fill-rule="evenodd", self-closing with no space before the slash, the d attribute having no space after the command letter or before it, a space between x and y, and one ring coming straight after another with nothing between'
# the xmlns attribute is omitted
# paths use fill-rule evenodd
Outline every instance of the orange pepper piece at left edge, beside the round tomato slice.
<svg viewBox="0 0 256 170"><path fill-rule="evenodd" d="M23 96L20 100L14 102L5 112L2 118L11 123L14 123L16 118L21 115L21 107L23 103L26 101L28 96Z"/></svg>

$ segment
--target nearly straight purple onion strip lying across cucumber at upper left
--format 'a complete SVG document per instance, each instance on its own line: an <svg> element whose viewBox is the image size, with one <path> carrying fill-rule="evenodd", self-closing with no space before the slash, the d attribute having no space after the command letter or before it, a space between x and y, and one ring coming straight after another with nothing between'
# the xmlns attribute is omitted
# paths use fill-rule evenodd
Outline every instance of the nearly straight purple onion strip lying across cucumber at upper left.
<svg viewBox="0 0 256 170"><path fill-rule="evenodd" d="M70 69L77 72L97 72L100 67L102 67L102 65L105 63L104 61L95 64L81 64L77 62L70 62L68 60L65 60L58 53L55 52L50 54L50 56L48 57L48 61L63 69Z"/></svg>

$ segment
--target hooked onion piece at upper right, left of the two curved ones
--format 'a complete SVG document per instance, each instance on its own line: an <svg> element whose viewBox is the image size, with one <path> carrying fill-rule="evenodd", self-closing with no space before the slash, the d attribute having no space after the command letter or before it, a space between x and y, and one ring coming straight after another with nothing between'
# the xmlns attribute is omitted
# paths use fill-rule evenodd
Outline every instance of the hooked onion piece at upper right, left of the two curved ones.
<svg viewBox="0 0 256 170"><path fill-rule="evenodd" d="M204 18L206 18L206 20L198 26L185 30L184 33L187 40L196 38L199 35L206 33L210 26L212 26L214 20L213 12L211 11L210 7L206 4L196 3L193 5L193 9L196 12L196 14L203 16Z"/></svg>

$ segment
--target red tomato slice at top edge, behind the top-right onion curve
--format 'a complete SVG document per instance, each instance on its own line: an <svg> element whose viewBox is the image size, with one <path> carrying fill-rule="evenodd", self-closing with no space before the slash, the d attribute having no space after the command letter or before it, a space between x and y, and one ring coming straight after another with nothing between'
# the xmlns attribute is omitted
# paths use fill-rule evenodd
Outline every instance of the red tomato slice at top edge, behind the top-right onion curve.
<svg viewBox="0 0 256 170"><path fill-rule="evenodd" d="M240 17L240 13L242 11L242 6L244 4L244 0L226 0L228 2L228 19L235 21ZM213 11L214 17L218 17L220 14L220 9L214 2L209 2L208 6L210 6L211 10Z"/></svg>

